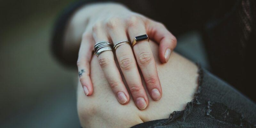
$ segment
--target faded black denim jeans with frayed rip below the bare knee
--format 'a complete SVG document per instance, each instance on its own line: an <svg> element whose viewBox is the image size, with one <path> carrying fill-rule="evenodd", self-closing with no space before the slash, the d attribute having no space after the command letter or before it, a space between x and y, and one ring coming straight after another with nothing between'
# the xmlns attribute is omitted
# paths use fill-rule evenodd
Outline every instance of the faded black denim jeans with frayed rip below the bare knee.
<svg viewBox="0 0 256 128"><path fill-rule="evenodd" d="M254 102L208 71L199 68L198 73L195 99L185 110L132 128L256 128Z"/></svg>

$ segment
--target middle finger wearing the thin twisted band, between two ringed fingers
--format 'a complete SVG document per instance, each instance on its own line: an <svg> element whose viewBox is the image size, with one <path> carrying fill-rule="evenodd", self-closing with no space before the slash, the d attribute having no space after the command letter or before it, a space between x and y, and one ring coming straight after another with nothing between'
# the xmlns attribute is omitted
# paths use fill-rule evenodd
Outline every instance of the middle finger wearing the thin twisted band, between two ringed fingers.
<svg viewBox="0 0 256 128"><path fill-rule="evenodd" d="M109 36L114 44L128 40L125 28L119 24L108 25ZM122 44L116 48L116 58L124 75L125 81L128 84L132 93L133 101L139 109L145 109L148 106L148 97L142 85L140 73L134 58L130 44Z"/></svg>

